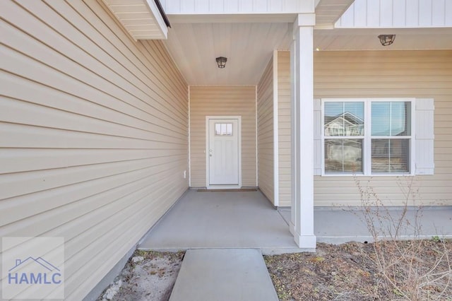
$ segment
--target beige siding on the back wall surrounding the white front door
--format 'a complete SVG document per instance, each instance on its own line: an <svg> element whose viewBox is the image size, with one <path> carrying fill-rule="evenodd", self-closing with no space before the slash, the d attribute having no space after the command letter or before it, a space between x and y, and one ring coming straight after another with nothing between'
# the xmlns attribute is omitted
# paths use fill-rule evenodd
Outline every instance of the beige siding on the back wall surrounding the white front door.
<svg viewBox="0 0 452 301"><path fill-rule="evenodd" d="M242 187L256 187L256 86L190 86L191 187L206 187L206 116L242 116Z"/></svg>

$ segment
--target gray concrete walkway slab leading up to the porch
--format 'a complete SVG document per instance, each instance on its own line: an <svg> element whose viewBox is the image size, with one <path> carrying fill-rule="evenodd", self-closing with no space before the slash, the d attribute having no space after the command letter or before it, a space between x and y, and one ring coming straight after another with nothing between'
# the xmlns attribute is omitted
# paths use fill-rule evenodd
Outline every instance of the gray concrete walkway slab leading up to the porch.
<svg viewBox="0 0 452 301"><path fill-rule="evenodd" d="M189 249L170 301L278 301L258 249Z"/></svg>

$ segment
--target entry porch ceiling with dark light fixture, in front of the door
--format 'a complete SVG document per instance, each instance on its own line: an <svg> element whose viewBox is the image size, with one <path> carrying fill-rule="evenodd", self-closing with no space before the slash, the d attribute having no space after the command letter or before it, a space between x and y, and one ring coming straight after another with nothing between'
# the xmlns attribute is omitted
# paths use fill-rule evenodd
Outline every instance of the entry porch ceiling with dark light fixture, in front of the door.
<svg viewBox="0 0 452 301"><path fill-rule="evenodd" d="M176 23L165 41L189 85L256 85L274 49L290 45L287 23ZM216 57L227 57L219 69Z"/></svg>

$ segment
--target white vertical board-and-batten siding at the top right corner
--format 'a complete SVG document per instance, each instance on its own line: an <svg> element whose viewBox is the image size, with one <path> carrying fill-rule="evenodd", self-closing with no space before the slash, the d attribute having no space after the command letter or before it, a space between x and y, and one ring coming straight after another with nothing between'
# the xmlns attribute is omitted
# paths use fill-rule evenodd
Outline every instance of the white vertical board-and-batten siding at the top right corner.
<svg viewBox="0 0 452 301"><path fill-rule="evenodd" d="M451 1L355 0L335 28L451 27Z"/></svg>

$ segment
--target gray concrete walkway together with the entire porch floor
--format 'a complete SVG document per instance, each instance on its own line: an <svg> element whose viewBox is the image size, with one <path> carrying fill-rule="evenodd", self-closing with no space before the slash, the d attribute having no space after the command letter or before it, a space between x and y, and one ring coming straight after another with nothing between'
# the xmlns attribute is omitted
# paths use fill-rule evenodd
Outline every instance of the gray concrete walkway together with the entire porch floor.
<svg viewBox="0 0 452 301"><path fill-rule="evenodd" d="M376 227L387 233L391 218L402 213L403 208L390 208ZM187 250L171 301L278 300L262 254L307 251L295 244L289 223L290 208L276 210L261 191L190 190L138 249ZM452 237L452 207L409 208L400 235L415 232ZM336 244L372 240L362 208L315 208L314 234L318 242Z"/></svg>

